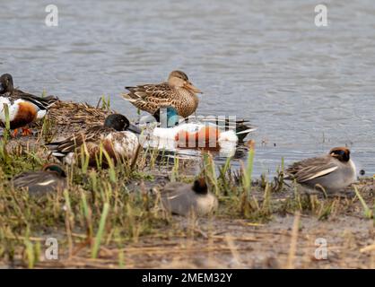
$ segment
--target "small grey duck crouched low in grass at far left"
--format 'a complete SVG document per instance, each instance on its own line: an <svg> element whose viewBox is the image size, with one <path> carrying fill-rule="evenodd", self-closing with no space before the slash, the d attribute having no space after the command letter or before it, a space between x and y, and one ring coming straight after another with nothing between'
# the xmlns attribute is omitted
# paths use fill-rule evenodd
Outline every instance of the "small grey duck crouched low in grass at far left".
<svg viewBox="0 0 375 287"><path fill-rule="evenodd" d="M22 172L12 182L14 188L26 187L32 196L45 195L64 190L66 174L60 165L48 163L42 170Z"/></svg>

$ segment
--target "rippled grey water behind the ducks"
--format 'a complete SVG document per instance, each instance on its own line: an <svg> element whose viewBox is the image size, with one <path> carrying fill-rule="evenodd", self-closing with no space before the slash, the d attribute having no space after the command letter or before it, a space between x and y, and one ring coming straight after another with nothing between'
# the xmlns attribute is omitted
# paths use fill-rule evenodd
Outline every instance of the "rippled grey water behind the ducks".
<svg viewBox="0 0 375 287"><path fill-rule="evenodd" d="M185 71L205 92L198 113L236 115L259 126L256 173L347 144L375 173L375 2L55 0L1 1L0 72L15 85L135 117L124 86ZM263 144L262 144L263 143Z"/></svg>

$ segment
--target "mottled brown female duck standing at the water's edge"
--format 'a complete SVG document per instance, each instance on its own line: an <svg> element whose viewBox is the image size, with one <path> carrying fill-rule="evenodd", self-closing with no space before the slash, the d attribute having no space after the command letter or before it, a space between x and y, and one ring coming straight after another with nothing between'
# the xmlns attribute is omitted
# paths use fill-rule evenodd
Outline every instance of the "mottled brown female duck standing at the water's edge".
<svg viewBox="0 0 375 287"><path fill-rule="evenodd" d="M182 71L171 72L165 83L126 87L126 90L129 92L123 93L122 97L137 109L154 114L162 106L171 106L177 109L181 117L188 117L196 112L199 103L196 94L203 93Z"/></svg>

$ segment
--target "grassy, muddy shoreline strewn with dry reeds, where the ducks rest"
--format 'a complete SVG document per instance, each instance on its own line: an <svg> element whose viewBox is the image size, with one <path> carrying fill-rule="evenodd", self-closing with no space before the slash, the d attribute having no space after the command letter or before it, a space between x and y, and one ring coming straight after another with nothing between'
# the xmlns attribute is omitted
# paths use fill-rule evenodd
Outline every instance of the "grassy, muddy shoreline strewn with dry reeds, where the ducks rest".
<svg viewBox="0 0 375 287"><path fill-rule="evenodd" d="M71 107L65 102L61 105ZM39 143L56 135L56 122L57 134L73 133L92 122L90 115L100 122L112 112L93 107L88 110L87 117L81 110L67 118L60 107L55 117L37 126L37 136L29 142L27 138L11 139L5 147L9 153L4 154L4 149L0 152L0 221L4 222L0 227L0 265L374 268L373 178L362 178L358 185L371 212L364 213L365 206L353 187L325 198L299 185L285 185L281 174L274 180L252 178L252 167L245 168L246 163L241 170L231 170L229 160L226 167L217 166L210 153L192 167L189 161L170 161L158 152L144 150L134 170L126 163L114 170L65 166L65 192L35 197L13 190L10 178L25 170L39 170L49 161L46 148ZM51 114L54 116L53 109ZM170 181L192 182L194 176L187 171L191 168L205 176L219 198L219 210L198 219L163 213L159 190ZM250 185L246 184L249 180ZM109 213L103 219L105 206ZM104 222L101 233L100 222ZM298 229L293 228L296 224ZM46 257L48 238L58 241L58 260ZM319 238L327 239L327 260L314 256ZM292 242L295 250L291 249Z"/></svg>

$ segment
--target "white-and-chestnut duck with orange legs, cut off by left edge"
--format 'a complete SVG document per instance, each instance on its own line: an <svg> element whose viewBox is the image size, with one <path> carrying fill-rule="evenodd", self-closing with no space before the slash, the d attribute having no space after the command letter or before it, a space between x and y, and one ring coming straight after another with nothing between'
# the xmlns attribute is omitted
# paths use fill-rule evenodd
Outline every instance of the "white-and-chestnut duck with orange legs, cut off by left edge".
<svg viewBox="0 0 375 287"><path fill-rule="evenodd" d="M5 126L4 105L7 105L10 128L14 130L13 136L17 135L20 127L22 135L31 135L31 129L27 126L45 117L49 107L57 100L54 96L41 98L15 89L12 75L2 74L0 76L0 126Z"/></svg>

